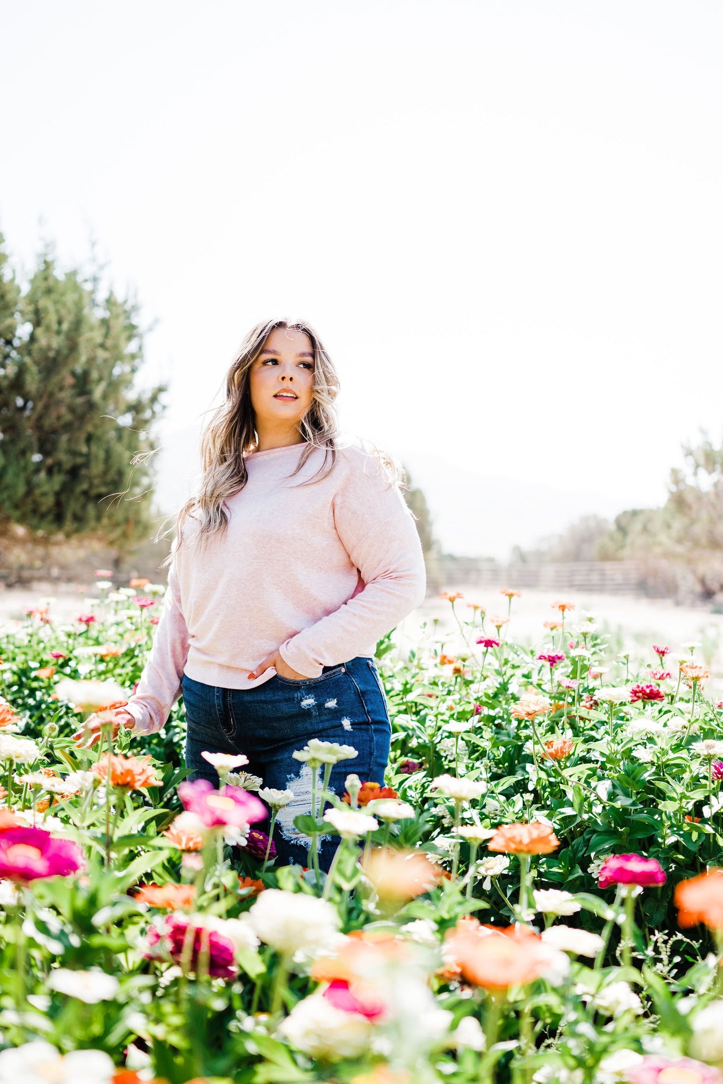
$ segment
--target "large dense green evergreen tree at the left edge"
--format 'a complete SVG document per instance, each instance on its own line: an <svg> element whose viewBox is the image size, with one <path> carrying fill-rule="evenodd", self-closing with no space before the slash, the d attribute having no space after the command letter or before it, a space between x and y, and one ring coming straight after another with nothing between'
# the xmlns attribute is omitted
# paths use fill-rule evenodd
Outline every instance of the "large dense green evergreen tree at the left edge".
<svg viewBox="0 0 723 1084"><path fill-rule="evenodd" d="M143 363L135 307L78 271L61 273L49 255L18 293L2 281L0 517L52 534L101 534L124 551L149 530L144 453L165 390L134 386Z"/></svg>

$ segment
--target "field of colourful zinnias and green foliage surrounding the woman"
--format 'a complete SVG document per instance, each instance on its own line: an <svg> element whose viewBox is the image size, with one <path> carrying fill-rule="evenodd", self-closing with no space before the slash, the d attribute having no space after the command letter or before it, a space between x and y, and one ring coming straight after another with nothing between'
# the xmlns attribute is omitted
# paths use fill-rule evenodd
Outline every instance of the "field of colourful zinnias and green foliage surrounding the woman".
<svg viewBox="0 0 723 1084"><path fill-rule="evenodd" d="M0 1084L723 1082L723 702L695 644L614 655L551 599L528 647L517 592L446 595L463 650L377 646L386 786L309 741L308 867L279 867L291 792L212 750L220 789L185 779L182 704L112 739L163 590L101 576L79 620L0 634Z"/></svg>

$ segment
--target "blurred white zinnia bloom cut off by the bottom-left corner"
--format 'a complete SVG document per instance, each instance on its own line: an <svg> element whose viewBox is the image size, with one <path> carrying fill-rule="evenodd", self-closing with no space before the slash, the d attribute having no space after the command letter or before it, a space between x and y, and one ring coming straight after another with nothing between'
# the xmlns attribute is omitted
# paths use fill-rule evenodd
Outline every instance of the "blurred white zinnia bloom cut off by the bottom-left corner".
<svg viewBox="0 0 723 1084"><path fill-rule="evenodd" d="M102 1050L62 1055L50 1043L24 1043L0 1054L0 1084L111 1084L113 1061Z"/></svg>

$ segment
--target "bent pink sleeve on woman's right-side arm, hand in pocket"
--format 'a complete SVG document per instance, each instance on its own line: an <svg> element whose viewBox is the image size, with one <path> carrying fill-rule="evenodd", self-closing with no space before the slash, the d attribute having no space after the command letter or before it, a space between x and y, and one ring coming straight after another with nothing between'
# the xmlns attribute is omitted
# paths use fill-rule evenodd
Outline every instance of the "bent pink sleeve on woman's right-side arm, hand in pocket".
<svg viewBox="0 0 723 1084"><path fill-rule="evenodd" d="M386 472L354 470L334 499L334 522L364 588L338 609L280 645L297 673L318 678L324 666L369 649L424 601L426 572L412 513Z"/></svg>

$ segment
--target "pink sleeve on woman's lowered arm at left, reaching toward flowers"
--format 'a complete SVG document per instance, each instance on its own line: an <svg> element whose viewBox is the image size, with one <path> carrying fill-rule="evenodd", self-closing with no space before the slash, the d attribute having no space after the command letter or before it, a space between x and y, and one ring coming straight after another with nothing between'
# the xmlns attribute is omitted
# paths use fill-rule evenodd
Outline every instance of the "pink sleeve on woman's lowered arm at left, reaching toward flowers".
<svg viewBox="0 0 723 1084"><path fill-rule="evenodd" d="M168 573L168 590L156 627L153 647L141 680L128 701L135 719L134 734L155 734L168 719L181 695L183 668L189 654L189 630L181 610L181 597L175 563Z"/></svg>

